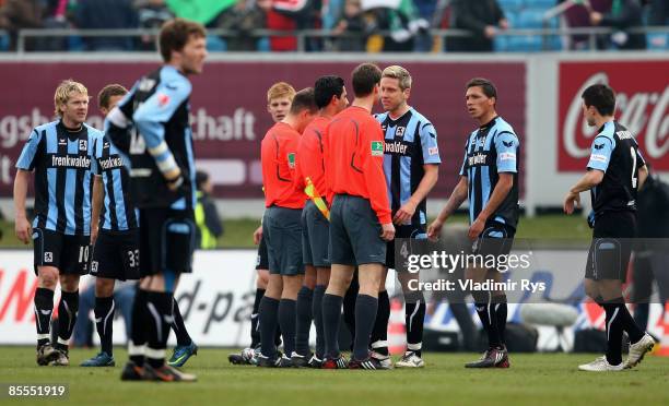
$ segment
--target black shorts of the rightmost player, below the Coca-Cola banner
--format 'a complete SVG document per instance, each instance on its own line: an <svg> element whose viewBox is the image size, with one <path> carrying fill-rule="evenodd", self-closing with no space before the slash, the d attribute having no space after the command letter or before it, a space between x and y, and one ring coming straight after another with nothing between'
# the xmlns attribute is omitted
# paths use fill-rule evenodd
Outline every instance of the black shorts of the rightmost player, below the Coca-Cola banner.
<svg viewBox="0 0 669 406"><path fill-rule="evenodd" d="M597 216L588 251L586 279L625 280L635 236L634 212L605 212Z"/></svg>

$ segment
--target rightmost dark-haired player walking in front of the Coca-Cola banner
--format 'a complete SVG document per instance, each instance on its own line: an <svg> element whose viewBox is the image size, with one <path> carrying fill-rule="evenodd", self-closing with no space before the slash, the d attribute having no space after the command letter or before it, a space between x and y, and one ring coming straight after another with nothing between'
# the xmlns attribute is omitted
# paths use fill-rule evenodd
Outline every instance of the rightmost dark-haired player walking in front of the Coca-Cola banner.
<svg viewBox="0 0 669 406"><path fill-rule="evenodd" d="M655 341L630 315L622 295L636 234L636 194L648 177L646 163L634 135L614 120L615 94L605 84L586 88L583 116L596 127L587 172L570 189L564 212L572 214L580 192L592 200L592 242L585 272L586 294L606 311L607 354L578 367L582 371L606 372L633 368L653 349ZM623 331L630 336L630 354L621 355Z"/></svg>

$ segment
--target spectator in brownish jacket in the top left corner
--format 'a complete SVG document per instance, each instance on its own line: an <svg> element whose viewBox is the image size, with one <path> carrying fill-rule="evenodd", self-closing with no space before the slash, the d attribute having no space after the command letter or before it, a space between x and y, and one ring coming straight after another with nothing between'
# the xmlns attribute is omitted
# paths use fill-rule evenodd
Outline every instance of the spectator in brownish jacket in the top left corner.
<svg viewBox="0 0 669 406"><path fill-rule="evenodd" d="M0 29L10 35L10 50L16 50L19 29L42 28L45 4L40 0L5 0L0 8ZM35 40L26 40L25 50L34 50Z"/></svg>

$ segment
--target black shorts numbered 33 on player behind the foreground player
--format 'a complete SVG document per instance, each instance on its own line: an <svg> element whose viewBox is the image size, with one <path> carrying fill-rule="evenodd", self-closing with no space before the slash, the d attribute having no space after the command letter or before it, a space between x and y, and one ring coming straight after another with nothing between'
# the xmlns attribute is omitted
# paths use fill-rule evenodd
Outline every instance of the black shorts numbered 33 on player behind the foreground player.
<svg viewBox="0 0 669 406"><path fill-rule="evenodd" d="M139 230L127 231L99 230L91 275L109 279L139 279Z"/></svg>

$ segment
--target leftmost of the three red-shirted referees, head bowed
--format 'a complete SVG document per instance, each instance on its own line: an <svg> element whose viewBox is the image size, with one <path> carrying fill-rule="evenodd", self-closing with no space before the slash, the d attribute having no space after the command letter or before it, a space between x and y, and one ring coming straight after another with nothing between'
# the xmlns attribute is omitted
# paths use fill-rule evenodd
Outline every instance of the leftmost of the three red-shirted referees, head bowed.
<svg viewBox="0 0 669 406"><path fill-rule="evenodd" d="M302 208L306 200L296 177L301 133L318 111L314 89L295 94L287 116L262 139L260 160L265 187L262 238L269 254L270 279L260 301L259 367L292 367L295 351L297 292L304 279L302 263ZM277 322L281 326L284 355L274 343Z"/></svg>

